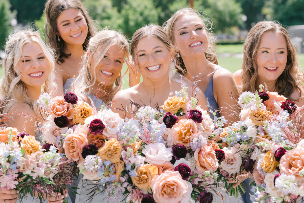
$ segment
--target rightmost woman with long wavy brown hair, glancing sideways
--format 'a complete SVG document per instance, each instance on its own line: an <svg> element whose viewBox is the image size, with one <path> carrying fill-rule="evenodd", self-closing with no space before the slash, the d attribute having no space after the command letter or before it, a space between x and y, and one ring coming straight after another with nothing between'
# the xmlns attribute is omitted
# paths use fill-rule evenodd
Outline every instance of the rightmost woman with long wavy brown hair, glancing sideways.
<svg viewBox="0 0 304 203"><path fill-rule="evenodd" d="M288 31L274 21L263 21L251 28L243 46L242 70L234 77L242 82L241 92L259 91L266 83L268 90L283 95L302 106L303 74L297 51Z"/></svg>

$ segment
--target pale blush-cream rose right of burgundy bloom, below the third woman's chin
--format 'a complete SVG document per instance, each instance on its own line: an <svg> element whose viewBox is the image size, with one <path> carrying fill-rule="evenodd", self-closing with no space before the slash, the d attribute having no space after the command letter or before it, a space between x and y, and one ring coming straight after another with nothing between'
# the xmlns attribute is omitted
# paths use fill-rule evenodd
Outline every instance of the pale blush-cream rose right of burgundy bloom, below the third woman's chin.
<svg viewBox="0 0 304 203"><path fill-rule="evenodd" d="M119 132L118 124L120 123L119 114L114 113L111 109L105 109L102 111L100 120L105 125L102 134L107 138L117 139L117 133Z"/></svg>

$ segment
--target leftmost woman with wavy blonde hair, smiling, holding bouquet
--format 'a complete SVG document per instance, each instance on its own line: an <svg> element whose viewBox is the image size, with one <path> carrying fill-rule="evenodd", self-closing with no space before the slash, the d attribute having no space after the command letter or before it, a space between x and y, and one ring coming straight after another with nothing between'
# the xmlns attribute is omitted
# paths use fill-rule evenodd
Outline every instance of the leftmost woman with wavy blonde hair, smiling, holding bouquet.
<svg viewBox="0 0 304 203"><path fill-rule="evenodd" d="M36 115L39 118L37 100L42 92L54 93L57 86L54 83L55 59L53 51L40 38L39 32L21 30L9 35L6 42L5 58L2 61L4 76L0 82L1 100L8 101L2 113L9 113L12 119L7 122L9 127L19 131L25 129L30 135L35 135L40 141L40 133L36 127L39 119L22 117L18 114ZM63 191L67 195L67 191ZM58 197L59 195L59 197ZM59 203L64 195L47 196L49 202ZM0 190L0 202L10 203L17 201L17 191ZM22 202L33 202L23 200Z"/></svg>

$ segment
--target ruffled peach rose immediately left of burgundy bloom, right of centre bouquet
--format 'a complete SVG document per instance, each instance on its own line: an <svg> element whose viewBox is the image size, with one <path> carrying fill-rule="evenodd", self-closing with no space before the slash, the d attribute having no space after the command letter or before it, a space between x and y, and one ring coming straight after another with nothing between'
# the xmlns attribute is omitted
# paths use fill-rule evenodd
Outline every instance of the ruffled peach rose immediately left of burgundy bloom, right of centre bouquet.
<svg viewBox="0 0 304 203"><path fill-rule="evenodd" d="M201 149L196 149L194 152L196 169L202 173L209 170L214 172L219 167L219 162L216 159L215 151L212 146L203 145Z"/></svg>

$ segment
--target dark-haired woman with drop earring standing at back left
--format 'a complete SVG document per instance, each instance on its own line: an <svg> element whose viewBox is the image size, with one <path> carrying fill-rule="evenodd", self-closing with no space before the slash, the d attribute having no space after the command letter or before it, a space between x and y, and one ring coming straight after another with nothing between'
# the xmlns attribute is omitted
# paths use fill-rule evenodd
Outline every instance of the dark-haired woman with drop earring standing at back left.
<svg viewBox="0 0 304 203"><path fill-rule="evenodd" d="M81 57L96 29L80 0L49 0L45 13L47 42L57 55L57 95L62 96L78 75Z"/></svg>

